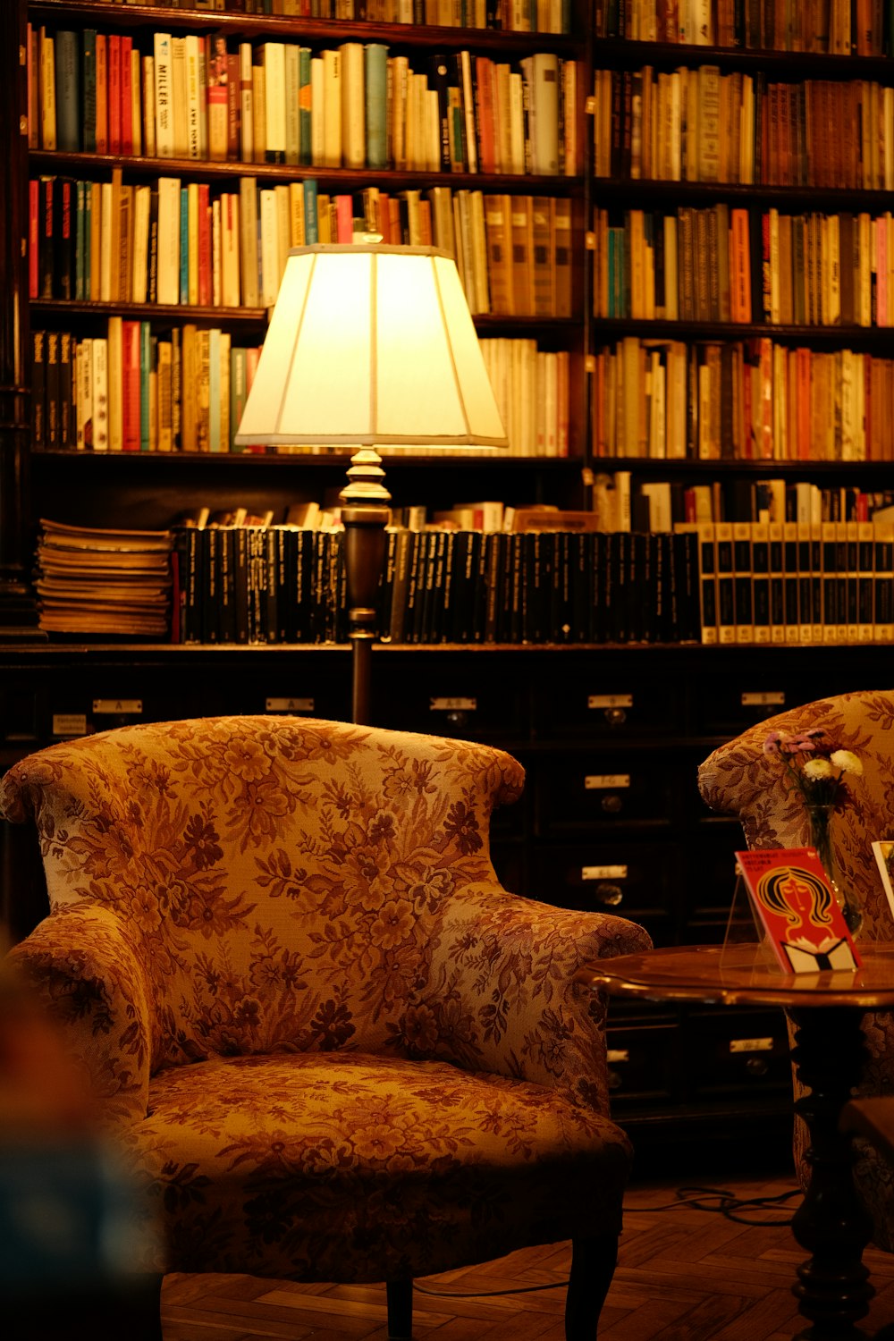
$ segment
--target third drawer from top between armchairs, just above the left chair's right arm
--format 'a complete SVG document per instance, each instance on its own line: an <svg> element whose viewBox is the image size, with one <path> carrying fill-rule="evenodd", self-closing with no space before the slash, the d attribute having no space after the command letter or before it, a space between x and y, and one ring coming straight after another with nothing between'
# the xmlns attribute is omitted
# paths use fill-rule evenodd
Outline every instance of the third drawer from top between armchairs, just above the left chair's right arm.
<svg viewBox="0 0 894 1341"><path fill-rule="evenodd" d="M536 848L528 893L559 908L617 913L673 944L680 862L672 843L591 842Z"/></svg>

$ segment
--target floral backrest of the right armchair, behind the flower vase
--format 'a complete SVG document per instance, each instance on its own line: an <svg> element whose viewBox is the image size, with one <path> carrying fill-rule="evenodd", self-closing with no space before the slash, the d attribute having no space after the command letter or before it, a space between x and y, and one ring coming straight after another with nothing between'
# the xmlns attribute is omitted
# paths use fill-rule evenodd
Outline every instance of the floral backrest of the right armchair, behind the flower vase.
<svg viewBox="0 0 894 1341"><path fill-rule="evenodd" d="M890 937L887 900L870 843L894 837L894 691L860 691L818 699L751 727L701 764L698 787L706 803L739 815L749 848L799 848L810 842L800 798L764 754L771 731L796 735L822 728L836 748L852 750L862 778L847 782L847 802L832 819L836 878L863 905L865 931Z"/></svg>

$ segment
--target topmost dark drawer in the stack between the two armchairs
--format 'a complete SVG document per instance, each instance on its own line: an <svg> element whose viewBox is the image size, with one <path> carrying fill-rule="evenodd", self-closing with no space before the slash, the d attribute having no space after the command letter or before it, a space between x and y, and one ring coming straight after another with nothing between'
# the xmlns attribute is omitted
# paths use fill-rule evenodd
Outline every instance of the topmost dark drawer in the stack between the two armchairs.
<svg viewBox="0 0 894 1341"><path fill-rule="evenodd" d="M658 673L618 672L610 677L594 656L592 672L575 670L539 695L539 730L556 738L622 740L681 732L680 688Z"/></svg>

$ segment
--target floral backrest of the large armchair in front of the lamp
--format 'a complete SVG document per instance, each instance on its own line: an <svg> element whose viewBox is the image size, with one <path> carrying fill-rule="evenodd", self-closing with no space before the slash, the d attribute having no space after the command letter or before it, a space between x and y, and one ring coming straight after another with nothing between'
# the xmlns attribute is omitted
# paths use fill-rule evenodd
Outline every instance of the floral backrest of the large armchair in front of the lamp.
<svg viewBox="0 0 894 1341"><path fill-rule="evenodd" d="M299 717L122 727L0 782L34 819L52 916L118 915L149 966L151 1070L279 1047L401 1050L445 900L493 882L524 772L433 736Z"/></svg>

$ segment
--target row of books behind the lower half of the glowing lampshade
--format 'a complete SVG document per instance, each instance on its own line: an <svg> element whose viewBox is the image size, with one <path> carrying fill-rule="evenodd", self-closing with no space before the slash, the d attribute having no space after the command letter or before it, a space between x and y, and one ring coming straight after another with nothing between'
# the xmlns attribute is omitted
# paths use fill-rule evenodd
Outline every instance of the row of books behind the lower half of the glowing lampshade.
<svg viewBox="0 0 894 1341"><path fill-rule="evenodd" d="M32 444L92 452L232 452L260 346L192 322L166 333L109 318L106 334L35 330ZM568 354L481 342L516 456L568 455ZM189 394L184 394L189 388ZM260 449L259 449L260 451Z"/></svg>

